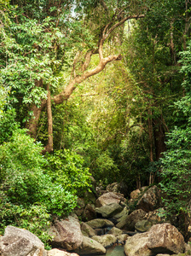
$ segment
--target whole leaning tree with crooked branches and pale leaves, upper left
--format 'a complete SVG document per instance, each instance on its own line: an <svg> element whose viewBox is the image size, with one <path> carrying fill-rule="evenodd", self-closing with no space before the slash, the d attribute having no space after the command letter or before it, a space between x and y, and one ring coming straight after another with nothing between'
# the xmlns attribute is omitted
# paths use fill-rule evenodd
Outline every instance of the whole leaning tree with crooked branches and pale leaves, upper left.
<svg viewBox="0 0 191 256"><path fill-rule="evenodd" d="M51 105L66 101L78 84L100 73L107 63L121 60L120 54L105 56L103 46L126 20L144 16L143 9L135 7L128 1L11 2L10 25L1 32L3 84L11 88L14 107L21 105L20 111L28 115L32 137L37 136L38 119L46 107L45 151L53 149ZM92 9L96 15L90 18ZM99 55L95 67L92 55Z"/></svg>

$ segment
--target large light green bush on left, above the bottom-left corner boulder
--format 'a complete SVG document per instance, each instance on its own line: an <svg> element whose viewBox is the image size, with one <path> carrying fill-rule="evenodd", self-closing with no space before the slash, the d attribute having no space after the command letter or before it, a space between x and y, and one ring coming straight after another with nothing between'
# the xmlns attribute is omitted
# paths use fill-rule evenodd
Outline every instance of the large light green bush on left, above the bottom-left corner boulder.
<svg viewBox="0 0 191 256"><path fill-rule="evenodd" d="M0 146L0 218L1 228L14 224L47 241L44 232L50 214L66 216L76 206L76 196L44 174L48 162L40 154L42 149L25 130L14 131Z"/></svg>

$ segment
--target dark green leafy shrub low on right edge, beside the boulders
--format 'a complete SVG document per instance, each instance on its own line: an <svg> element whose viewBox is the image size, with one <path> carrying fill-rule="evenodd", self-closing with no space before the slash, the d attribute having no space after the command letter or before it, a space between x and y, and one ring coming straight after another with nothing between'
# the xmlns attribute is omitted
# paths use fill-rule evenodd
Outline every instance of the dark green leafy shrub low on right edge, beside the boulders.
<svg viewBox="0 0 191 256"><path fill-rule="evenodd" d="M176 128L168 136L169 149L162 158L161 189L165 193L165 207L169 214L187 212L191 195L191 131L190 125Z"/></svg>

